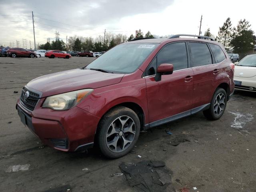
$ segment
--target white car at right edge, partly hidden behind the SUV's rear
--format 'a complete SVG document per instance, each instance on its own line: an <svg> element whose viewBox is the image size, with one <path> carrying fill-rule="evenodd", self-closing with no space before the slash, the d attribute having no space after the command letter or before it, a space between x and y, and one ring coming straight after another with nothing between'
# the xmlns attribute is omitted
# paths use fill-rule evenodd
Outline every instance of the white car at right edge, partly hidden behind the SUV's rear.
<svg viewBox="0 0 256 192"><path fill-rule="evenodd" d="M256 92L256 54L235 62L235 89Z"/></svg>

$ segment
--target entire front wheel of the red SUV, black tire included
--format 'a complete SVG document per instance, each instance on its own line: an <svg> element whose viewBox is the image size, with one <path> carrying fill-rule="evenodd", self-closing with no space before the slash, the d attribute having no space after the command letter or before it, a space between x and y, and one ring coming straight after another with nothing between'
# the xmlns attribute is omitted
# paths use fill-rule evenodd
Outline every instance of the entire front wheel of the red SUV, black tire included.
<svg viewBox="0 0 256 192"><path fill-rule="evenodd" d="M130 108L118 106L100 120L96 143L107 158L120 158L130 152L140 134L140 120Z"/></svg>

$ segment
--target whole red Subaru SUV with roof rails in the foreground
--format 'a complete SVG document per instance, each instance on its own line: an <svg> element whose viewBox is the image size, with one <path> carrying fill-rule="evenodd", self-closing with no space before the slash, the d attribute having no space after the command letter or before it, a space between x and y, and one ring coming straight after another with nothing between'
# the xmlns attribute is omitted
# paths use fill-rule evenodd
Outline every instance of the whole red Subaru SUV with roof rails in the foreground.
<svg viewBox="0 0 256 192"><path fill-rule="evenodd" d="M96 145L119 158L142 130L200 111L219 119L234 92L234 64L212 38L182 36L191 35L135 39L86 67L30 81L16 105L21 121L55 149Z"/></svg>

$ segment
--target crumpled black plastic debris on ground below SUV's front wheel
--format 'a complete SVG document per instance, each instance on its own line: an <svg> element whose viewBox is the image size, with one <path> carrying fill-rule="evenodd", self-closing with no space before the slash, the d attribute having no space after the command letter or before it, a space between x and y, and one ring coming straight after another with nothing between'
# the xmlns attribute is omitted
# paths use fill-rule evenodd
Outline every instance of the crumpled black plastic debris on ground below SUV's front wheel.
<svg viewBox="0 0 256 192"><path fill-rule="evenodd" d="M171 183L171 172L162 161L141 161L136 164L122 163L119 168L129 186L144 192L163 192Z"/></svg>

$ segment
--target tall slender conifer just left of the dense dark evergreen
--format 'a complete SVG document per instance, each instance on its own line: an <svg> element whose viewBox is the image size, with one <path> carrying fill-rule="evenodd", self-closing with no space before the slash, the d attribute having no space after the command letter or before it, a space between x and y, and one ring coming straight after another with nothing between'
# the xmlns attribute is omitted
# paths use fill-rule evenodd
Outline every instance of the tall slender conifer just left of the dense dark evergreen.
<svg viewBox="0 0 256 192"><path fill-rule="evenodd" d="M219 28L218 36L216 40L224 45L226 49L230 47L230 41L232 39L232 24L230 18L227 18L223 26Z"/></svg>

